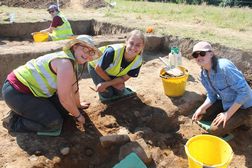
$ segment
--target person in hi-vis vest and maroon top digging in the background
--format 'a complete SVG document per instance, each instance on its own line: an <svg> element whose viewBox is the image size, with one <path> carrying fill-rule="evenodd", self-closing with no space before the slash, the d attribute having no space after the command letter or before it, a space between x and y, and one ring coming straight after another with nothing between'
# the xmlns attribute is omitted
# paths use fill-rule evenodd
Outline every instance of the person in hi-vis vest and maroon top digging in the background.
<svg viewBox="0 0 252 168"><path fill-rule="evenodd" d="M52 16L52 23L49 28L40 32L48 32L53 41L64 40L73 36L69 21L62 15L57 5L50 5L47 11Z"/></svg>

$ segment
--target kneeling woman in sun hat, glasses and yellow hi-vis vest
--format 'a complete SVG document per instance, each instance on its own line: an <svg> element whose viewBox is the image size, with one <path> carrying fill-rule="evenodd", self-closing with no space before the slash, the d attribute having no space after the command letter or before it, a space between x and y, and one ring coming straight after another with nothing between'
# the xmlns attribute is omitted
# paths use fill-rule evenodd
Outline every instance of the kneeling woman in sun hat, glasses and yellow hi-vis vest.
<svg viewBox="0 0 252 168"><path fill-rule="evenodd" d="M98 58L92 38L80 35L63 51L46 54L13 70L4 82L2 95L11 113L3 126L11 132L55 131L66 114L85 123L78 87L78 65Z"/></svg>

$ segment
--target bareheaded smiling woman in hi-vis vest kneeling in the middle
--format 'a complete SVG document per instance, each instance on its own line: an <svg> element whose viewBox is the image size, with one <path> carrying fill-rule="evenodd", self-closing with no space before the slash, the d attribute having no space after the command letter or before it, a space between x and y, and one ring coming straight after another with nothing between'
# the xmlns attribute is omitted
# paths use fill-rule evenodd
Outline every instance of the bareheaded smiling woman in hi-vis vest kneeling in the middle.
<svg viewBox="0 0 252 168"><path fill-rule="evenodd" d="M99 48L103 55L88 63L88 71L100 97L120 96L124 92L125 82L130 77L138 76L144 43L144 34L133 30L127 36L125 44Z"/></svg>

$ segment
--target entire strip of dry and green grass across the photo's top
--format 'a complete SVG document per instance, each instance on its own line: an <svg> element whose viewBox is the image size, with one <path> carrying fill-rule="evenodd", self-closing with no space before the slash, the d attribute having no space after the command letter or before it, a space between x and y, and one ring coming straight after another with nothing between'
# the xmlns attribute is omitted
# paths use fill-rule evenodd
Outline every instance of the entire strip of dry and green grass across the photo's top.
<svg viewBox="0 0 252 168"><path fill-rule="evenodd" d="M111 2L114 0L107 0ZM115 0L114 8L64 9L69 19L96 19L145 30L153 26L155 34L174 35L252 50L252 9L221 8L145 1ZM16 12L17 21L50 20L46 10L0 7L2 13ZM27 14L27 12L29 14Z"/></svg>

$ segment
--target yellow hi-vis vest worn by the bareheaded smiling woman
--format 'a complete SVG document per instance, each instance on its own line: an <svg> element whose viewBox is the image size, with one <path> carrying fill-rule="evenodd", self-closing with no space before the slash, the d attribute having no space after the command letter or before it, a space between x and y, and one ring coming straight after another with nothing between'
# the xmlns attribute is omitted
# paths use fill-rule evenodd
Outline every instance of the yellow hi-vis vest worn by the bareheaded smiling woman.
<svg viewBox="0 0 252 168"><path fill-rule="evenodd" d="M104 47L100 47L99 50L103 53L108 47L112 47L114 49L114 59L113 62L109 65L109 67L105 70L110 76L124 76L130 70L136 69L142 65L142 57L137 55L135 59L125 68L121 69L121 63L123 58L123 53L125 50L124 44L113 44ZM89 64L92 67L95 67L97 64L101 64L103 57L100 57L94 61L91 61Z"/></svg>

